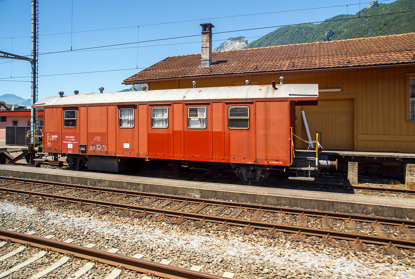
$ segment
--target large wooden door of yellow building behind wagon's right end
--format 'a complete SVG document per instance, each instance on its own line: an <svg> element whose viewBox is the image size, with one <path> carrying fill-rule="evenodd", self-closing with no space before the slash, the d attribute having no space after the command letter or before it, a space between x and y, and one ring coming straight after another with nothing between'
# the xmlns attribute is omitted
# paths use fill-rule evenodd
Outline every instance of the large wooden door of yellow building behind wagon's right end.
<svg viewBox="0 0 415 279"><path fill-rule="evenodd" d="M301 109L305 111L313 140L316 130L327 131L319 140L324 149L354 150L354 99L319 99L317 106L302 106ZM301 112L299 114L301 117ZM300 130L301 138L306 140L304 124ZM307 143L302 142L301 148L307 147Z"/></svg>

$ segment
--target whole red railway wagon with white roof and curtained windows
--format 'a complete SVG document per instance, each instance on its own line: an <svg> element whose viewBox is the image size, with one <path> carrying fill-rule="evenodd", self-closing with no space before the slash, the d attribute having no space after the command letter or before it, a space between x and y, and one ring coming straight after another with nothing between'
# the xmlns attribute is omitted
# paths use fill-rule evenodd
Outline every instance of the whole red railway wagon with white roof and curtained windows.
<svg viewBox="0 0 415 279"><path fill-rule="evenodd" d="M119 171L131 158L228 163L247 184L293 164L295 105L316 84L147 90L41 99L43 150L71 167Z"/></svg>

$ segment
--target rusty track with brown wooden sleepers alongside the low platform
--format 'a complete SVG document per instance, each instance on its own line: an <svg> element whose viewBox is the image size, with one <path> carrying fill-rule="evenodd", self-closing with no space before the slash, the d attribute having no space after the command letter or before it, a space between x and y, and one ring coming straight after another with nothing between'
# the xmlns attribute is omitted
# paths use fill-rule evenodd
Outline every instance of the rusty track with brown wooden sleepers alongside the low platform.
<svg viewBox="0 0 415 279"><path fill-rule="evenodd" d="M98 210L105 214L142 218L154 214L154 221L181 224L187 220L202 228L207 222L216 223L216 230L229 226L242 227L241 233L255 229L267 230L269 237L278 238L279 232L292 233L294 240L306 236L321 237L325 245L334 240L349 240L355 250L365 251L364 243L384 245L391 255L401 256L397 249L414 249L415 221L376 216L334 213L326 211L283 208L232 201L197 199L166 194L152 194L124 189L73 185L28 179L0 177L2 198L24 202L54 203L83 211ZM293 221L295 219L295 222ZM313 222L311 222L313 220ZM288 224L287 224L288 223ZM311 223L319 226L310 227ZM334 225L346 228L336 229ZM371 227L373 233L362 233L359 225ZM366 229L365 229L366 231ZM398 235L393 237L391 235Z"/></svg>

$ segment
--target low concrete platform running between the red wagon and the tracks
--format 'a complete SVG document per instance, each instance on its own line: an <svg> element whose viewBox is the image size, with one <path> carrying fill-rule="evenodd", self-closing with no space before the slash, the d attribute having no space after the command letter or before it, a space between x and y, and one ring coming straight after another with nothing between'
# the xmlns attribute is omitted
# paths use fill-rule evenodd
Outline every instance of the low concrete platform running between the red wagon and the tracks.
<svg viewBox="0 0 415 279"><path fill-rule="evenodd" d="M250 187L15 165L0 165L0 176L185 195L204 199L223 199L272 206L415 219L415 203L410 199Z"/></svg>

